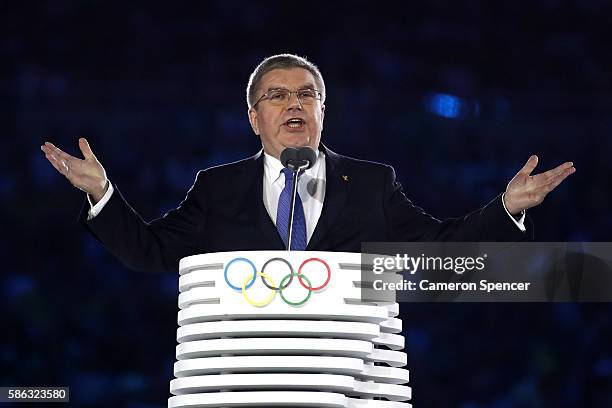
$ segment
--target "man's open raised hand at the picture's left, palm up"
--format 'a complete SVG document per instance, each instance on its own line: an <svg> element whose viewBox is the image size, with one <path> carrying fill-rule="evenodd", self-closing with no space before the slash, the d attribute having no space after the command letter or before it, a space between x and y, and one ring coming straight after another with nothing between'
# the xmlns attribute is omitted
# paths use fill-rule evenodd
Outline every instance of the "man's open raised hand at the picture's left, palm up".
<svg viewBox="0 0 612 408"><path fill-rule="evenodd" d="M104 167L91 151L87 139L79 139L79 148L83 153L83 160L69 155L50 142L45 142L40 146L40 150L45 153L45 157L53 167L63 174L73 186L89 194L95 204L106 193L109 181L106 178Z"/></svg>

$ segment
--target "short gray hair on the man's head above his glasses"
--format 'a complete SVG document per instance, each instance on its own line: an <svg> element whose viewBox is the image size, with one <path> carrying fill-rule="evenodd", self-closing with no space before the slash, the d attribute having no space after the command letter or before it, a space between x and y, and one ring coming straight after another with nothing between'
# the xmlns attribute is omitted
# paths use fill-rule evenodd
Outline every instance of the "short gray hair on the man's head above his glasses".
<svg viewBox="0 0 612 408"><path fill-rule="evenodd" d="M318 91L321 92L321 103L325 102L325 82L323 82L323 76L319 68L308 61L304 57L300 57L294 54L277 54L272 55L261 61L257 68L251 73L249 77L249 83L247 85L247 105L249 109L253 107L257 102L257 91L261 83L261 78L268 72L274 69L292 69L292 68L303 68L312 74L315 78L316 86Z"/></svg>

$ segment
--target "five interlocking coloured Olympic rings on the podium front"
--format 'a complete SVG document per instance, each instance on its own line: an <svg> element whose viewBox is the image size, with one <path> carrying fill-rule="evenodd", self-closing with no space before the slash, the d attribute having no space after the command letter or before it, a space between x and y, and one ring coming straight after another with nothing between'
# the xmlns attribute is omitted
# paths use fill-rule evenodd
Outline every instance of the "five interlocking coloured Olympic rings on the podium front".
<svg viewBox="0 0 612 408"><path fill-rule="evenodd" d="M246 263L248 264L251 269L252 272L248 274L248 276L246 277L246 279L244 279L243 282L241 282L240 286L236 286L233 285L228 278L228 271L230 270L230 267L234 264L237 263ZM268 274L266 274L266 268L274 263L274 262L281 262L283 264L285 264L288 268L289 268L289 273L287 275L285 275L279 283L279 286L276 286L276 283L274 282L274 279L272 279L272 277ZM317 287L313 287L312 283L310 282L310 279L308 279L306 277L306 275L304 275L302 273L302 269L304 268L305 265L309 264L310 262L319 262L321 263L323 266L325 266L325 269L327 270L327 279L325 279L325 282L323 282L322 285L319 285ZM247 289L249 289L251 286L253 286L253 284L255 283L255 280L257 279L257 277L261 277L261 281L263 282L264 285L266 285L266 287L268 289L270 289L270 294L265 297L264 299L260 299L260 300L255 300L252 299L248 294L247 294ZM293 300L289 300L287 299L287 297L285 296L285 294L283 293L283 290L287 289L287 287L291 284L291 282L293 282L293 278L297 276L298 281L300 282L300 285L302 285L302 287L304 287L305 289L308 290L308 293L306 294L306 297L304 297L302 300L298 300L298 301L293 301ZM294 272L293 267L291 266L291 264L283 258L271 258L269 259L264 266L261 268L261 271L258 271L257 268L255 267L255 264L253 262L251 262L249 259L247 258L234 258L231 261L229 261L227 263L227 265L225 266L225 270L223 271L223 277L225 278L225 283L227 283L227 285L234 289L237 292L241 292L242 293L242 297L244 297L244 299L251 305L256 306L256 307L264 307L268 304L270 304L274 298L276 297L276 293L278 292L278 294L280 295L281 299L283 299L283 301L290 305L290 306L301 306L304 303L306 303L308 301L308 299L310 299L310 296L312 295L312 292L316 292L318 290L321 290L323 288L325 288L327 286L327 284L329 283L329 280L331 278L331 269L329 268L329 265L327 264L327 262L325 262L324 260L320 259L320 258L309 258L306 259L304 262L302 262L302 264L300 265L300 267L298 268L297 273ZM304 282L306 281L306 282Z"/></svg>

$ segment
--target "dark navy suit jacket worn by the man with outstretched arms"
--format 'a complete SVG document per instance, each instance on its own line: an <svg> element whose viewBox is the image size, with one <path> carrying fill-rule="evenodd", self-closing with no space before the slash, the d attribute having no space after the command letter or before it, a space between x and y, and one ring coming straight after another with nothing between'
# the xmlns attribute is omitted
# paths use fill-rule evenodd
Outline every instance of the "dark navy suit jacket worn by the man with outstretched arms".
<svg viewBox="0 0 612 408"><path fill-rule="evenodd" d="M522 241L501 195L459 218L438 220L412 204L392 167L336 154L321 145L326 190L307 250L360 252L362 242ZM136 270L176 271L188 255L237 250L282 250L263 204L263 152L198 172L187 197L163 217L145 222L115 187L92 220L80 222L123 264Z"/></svg>

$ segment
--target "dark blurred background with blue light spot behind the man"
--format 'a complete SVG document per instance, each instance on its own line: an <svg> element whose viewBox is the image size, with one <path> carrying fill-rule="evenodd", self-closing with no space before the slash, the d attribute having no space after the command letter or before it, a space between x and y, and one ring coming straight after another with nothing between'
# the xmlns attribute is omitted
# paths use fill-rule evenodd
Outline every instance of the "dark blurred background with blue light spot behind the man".
<svg viewBox="0 0 612 408"><path fill-rule="evenodd" d="M107 254L76 222L84 194L39 146L78 154L87 137L156 218L198 169L259 149L245 86L279 52L323 73L323 141L392 164L435 216L481 206L537 153L536 171L578 171L529 210L536 239L610 240L609 2L329 3L1 3L0 385L68 385L71 406L166 406L177 274ZM608 304L402 312L415 406L612 406Z"/></svg>

